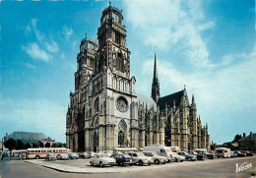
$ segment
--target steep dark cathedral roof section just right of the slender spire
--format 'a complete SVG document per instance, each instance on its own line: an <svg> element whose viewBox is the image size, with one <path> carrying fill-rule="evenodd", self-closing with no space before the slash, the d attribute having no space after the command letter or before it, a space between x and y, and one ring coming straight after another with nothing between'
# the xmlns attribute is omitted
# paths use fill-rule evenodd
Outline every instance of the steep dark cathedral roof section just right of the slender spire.
<svg viewBox="0 0 256 178"><path fill-rule="evenodd" d="M167 104L168 107L173 107L174 100L175 100L175 106L179 106L182 96L183 96L183 90L180 90L172 94L160 97L158 102L158 105L160 106L160 110L165 109L165 104Z"/></svg>

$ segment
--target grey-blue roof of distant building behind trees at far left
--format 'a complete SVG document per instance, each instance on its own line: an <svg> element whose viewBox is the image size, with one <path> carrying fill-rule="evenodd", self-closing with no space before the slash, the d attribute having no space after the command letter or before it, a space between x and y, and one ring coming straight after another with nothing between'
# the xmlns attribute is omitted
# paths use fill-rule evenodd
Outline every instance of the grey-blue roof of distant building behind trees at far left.
<svg viewBox="0 0 256 178"><path fill-rule="evenodd" d="M35 143L43 139L48 139L43 133L32 133L32 132L13 132L8 136L8 139L21 140L23 143Z"/></svg>

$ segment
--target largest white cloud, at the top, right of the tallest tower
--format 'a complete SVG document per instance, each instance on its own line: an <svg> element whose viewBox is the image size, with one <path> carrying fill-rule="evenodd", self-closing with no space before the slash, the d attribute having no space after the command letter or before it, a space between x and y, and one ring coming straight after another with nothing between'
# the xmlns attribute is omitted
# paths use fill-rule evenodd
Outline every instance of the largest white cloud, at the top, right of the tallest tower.
<svg viewBox="0 0 256 178"><path fill-rule="evenodd" d="M205 19L200 0L125 0L127 20L144 44L161 50L179 48L194 68L213 69L202 32L215 27ZM138 32L139 31L139 32Z"/></svg>

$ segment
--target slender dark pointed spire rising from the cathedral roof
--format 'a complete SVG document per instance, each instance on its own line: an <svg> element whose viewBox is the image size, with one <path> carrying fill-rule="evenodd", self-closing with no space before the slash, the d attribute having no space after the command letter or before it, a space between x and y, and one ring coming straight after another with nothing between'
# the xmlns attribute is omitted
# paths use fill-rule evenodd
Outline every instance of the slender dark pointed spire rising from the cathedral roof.
<svg viewBox="0 0 256 178"><path fill-rule="evenodd" d="M155 100L155 102L158 102L159 98L160 98L160 84L159 84L159 79L158 79L156 51L155 51L154 76L153 76L152 92L151 93L152 93L151 96Z"/></svg>

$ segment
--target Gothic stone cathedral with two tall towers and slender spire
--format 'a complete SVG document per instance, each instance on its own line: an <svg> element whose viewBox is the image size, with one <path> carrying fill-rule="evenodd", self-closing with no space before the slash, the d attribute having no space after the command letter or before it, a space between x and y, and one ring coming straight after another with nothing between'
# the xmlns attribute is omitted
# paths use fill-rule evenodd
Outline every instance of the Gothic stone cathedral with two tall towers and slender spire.
<svg viewBox="0 0 256 178"><path fill-rule="evenodd" d="M102 12L97 40L81 40L66 116L67 148L209 149L208 126L201 125L194 95L191 104L185 88L160 97L156 52L152 96L137 93L130 54L122 11L109 4Z"/></svg>

